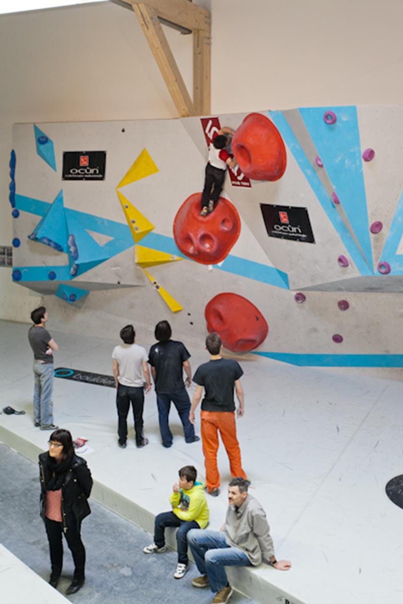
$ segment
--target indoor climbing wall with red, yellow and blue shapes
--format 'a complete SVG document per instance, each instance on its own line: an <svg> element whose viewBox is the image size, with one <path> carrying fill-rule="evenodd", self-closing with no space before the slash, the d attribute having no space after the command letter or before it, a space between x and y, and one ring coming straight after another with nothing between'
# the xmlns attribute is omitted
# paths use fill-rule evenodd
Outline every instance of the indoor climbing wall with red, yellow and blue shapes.
<svg viewBox="0 0 403 604"><path fill-rule="evenodd" d="M235 130L214 211L208 144ZM13 280L105 321L302 365L401 367L403 108L16 124Z"/></svg>

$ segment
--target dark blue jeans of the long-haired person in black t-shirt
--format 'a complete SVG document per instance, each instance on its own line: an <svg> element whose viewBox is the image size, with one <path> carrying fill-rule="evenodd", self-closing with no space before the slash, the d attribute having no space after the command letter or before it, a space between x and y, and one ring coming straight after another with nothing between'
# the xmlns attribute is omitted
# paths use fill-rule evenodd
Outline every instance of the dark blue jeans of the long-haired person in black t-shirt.
<svg viewBox="0 0 403 604"><path fill-rule="evenodd" d="M158 421L160 422L161 439L163 439L164 447L172 445L173 436L169 429L168 419L171 401L178 411L181 419L183 431L185 433L185 441L192 443L195 438L195 426L189 422L190 399L186 388L181 388L176 392L169 394L156 393L156 405L158 406Z"/></svg>

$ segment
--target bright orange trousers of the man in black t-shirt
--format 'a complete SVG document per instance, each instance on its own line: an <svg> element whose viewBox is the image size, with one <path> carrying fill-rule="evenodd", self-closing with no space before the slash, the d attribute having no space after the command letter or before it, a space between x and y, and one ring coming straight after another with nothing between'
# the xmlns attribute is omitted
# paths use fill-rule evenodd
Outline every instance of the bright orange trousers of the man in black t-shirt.
<svg viewBox="0 0 403 604"><path fill-rule="evenodd" d="M231 476L246 478L247 475L243 472L240 461L234 411L202 411L200 417L207 489L218 489L220 486L220 475L217 467L218 432L230 460Z"/></svg>

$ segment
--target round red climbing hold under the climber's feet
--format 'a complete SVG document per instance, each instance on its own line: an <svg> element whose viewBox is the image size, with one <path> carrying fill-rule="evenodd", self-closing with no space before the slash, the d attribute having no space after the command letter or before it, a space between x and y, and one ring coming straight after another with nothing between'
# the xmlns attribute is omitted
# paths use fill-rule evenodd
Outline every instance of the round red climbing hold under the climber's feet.
<svg viewBox="0 0 403 604"><path fill-rule="evenodd" d="M173 221L173 237L182 254L201 264L224 260L239 237L240 218L228 199L219 198L207 216L201 216L201 193L184 201Z"/></svg>

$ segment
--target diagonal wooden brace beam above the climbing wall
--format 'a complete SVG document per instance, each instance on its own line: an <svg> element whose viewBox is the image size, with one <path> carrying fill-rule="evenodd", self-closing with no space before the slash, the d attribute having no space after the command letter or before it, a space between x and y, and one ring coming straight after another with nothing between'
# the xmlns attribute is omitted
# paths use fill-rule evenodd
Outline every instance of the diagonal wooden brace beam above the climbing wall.
<svg viewBox="0 0 403 604"><path fill-rule="evenodd" d="M158 14L143 2L133 2L133 10L137 15L144 35L161 74L165 80L173 102L180 117L196 115L192 99L187 92L181 72L169 48L168 40L158 21Z"/></svg>

